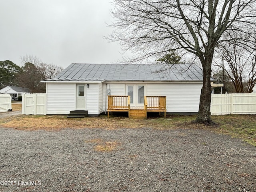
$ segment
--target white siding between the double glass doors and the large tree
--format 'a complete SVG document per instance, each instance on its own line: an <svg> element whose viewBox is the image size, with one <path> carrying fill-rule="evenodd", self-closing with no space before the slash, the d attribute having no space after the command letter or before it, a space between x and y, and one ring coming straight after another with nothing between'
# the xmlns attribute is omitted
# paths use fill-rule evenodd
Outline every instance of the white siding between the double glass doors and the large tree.
<svg viewBox="0 0 256 192"><path fill-rule="evenodd" d="M167 112L198 112L202 83L148 83L147 96L166 96Z"/></svg>

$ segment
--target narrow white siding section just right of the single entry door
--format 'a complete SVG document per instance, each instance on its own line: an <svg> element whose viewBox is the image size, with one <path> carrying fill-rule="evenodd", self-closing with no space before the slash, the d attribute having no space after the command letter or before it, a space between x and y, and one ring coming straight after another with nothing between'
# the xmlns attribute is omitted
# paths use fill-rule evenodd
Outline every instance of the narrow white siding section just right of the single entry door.
<svg viewBox="0 0 256 192"><path fill-rule="evenodd" d="M88 115L98 115L99 83L90 83L90 87L86 90L86 110Z"/></svg>

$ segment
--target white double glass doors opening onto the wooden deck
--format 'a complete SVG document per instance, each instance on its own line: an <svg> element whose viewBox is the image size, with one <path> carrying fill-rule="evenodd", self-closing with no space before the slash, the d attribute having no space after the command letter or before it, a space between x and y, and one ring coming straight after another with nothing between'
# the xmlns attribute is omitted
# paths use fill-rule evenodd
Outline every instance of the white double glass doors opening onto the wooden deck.
<svg viewBox="0 0 256 192"><path fill-rule="evenodd" d="M130 96L130 106L143 106L145 85L126 84L126 95Z"/></svg>

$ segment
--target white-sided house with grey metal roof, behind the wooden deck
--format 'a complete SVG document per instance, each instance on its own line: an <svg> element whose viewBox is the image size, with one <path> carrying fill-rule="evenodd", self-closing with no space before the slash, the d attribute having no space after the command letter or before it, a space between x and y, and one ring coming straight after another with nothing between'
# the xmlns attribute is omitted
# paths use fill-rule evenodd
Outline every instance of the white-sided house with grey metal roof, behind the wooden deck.
<svg viewBox="0 0 256 192"><path fill-rule="evenodd" d="M197 113L202 69L195 64L70 64L46 83L46 114L88 110L106 113L108 95L130 96L143 106L144 96L166 96L166 112Z"/></svg>

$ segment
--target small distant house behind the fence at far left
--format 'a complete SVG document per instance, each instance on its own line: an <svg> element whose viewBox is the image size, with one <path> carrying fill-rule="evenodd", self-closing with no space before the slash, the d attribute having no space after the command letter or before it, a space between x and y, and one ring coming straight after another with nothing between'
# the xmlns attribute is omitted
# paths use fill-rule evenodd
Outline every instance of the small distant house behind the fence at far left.
<svg viewBox="0 0 256 192"><path fill-rule="evenodd" d="M17 86L6 86L0 89L0 94L10 94L12 100L17 100L22 94L31 93L28 88Z"/></svg>

